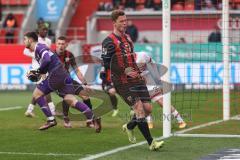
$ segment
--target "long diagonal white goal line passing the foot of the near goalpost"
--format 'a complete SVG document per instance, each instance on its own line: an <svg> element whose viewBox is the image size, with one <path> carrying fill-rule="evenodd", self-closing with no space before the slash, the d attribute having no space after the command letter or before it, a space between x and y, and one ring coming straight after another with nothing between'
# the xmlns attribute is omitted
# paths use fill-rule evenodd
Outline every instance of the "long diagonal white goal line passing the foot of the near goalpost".
<svg viewBox="0 0 240 160"><path fill-rule="evenodd" d="M234 116L231 119L235 119L238 116L239 115ZM218 124L218 123L221 123L221 122L223 122L223 120L217 120L217 121L201 124L201 125L198 125L198 126L195 126L195 127L191 127L191 128L188 128L188 129L184 129L184 130L181 130L181 131L177 131L177 132L171 134L170 137L174 136L175 134L176 135L183 134L183 133L186 133L186 132L191 131L191 130L211 126L211 125ZM157 138L157 140L163 140L163 139L167 139L167 138L170 138L170 137L166 137L166 138L165 137L159 137L159 138ZM98 153L98 154L95 154L95 155L90 155L90 156L87 156L85 158L80 158L79 160L94 160L94 159L105 157L105 156L108 156L108 155L111 155L111 154L114 154L114 153L117 153L117 152L120 152L120 151L127 150L129 148L134 148L134 147L137 147L137 146L141 146L143 144L146 144L146 141L139 142L139 143L132 144L132 145L128 145L128 146L118 147L118 148L115 148L113 150L105 151L105 152Z"/></svg>

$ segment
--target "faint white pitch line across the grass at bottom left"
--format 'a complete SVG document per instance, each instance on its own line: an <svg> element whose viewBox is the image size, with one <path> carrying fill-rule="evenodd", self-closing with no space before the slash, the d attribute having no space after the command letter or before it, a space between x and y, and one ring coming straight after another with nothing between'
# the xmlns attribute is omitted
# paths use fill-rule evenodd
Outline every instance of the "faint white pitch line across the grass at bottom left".
<svg viewBox="0 0 240 160"><path fill-rule="evenodd" d="M7 155L31 155L31 156L82 156L82 154L64 154L64 153L24 153L24 152L0 152Z"/></svg>

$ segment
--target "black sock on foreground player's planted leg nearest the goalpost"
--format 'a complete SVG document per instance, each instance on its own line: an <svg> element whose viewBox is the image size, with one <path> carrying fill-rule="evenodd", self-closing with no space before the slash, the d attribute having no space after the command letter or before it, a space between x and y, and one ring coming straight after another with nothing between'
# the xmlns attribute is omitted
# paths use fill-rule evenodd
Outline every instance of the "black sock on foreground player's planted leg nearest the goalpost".
<svg viewBox="0 0 240 160"><path fill-rule="evenodd" d="M138 128L141 131L144 138L147 140L148 144L151 145L153 138L151 136L148 124L145 118L137 119Z"/></svg>

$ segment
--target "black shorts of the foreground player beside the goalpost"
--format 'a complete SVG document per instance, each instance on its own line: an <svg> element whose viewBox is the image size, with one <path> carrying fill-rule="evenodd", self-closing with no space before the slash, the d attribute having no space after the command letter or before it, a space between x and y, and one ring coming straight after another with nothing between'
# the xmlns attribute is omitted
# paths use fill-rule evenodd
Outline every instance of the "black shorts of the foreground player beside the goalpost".
<svg viewBox="0 0 240 160"><path fill-rule="evenodd" d="M114 86L117 93L129 105L133 106L138 100L150 102L151 98L147 86L143 82L117 84Z"/></svg>

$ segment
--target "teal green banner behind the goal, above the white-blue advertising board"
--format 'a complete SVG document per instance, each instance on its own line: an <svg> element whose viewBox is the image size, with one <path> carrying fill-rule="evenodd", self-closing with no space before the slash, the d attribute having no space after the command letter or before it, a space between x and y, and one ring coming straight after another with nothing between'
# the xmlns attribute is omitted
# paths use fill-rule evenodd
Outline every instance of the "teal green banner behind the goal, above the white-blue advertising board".
<svg viewBox="0 0 240 160"><path fill-rule="evenodd" d="M240 60L240 46L238 43L230 44L230 58L238 62ZM135 45L136 52L145 51L157 63L162 63L162 44ZM176 63L191 62L222 62L223 51L221 43L173 43L171 46L171 61Z"/></svg>

